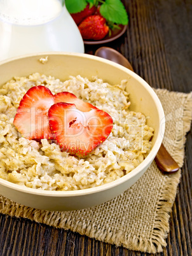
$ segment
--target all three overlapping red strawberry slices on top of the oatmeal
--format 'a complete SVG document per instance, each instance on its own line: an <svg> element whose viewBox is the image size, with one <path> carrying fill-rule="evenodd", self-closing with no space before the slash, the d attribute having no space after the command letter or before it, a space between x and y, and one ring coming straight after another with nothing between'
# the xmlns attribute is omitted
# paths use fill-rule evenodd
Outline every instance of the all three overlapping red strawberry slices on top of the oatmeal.
<svg viewBox="0 0 192 256"><path fill-rule="evenodd" d="M53 95L45 86L29 89L13 124L27 139L55 139L61 150L84 157L106 140L113 119L70 92Z"/></svg>

